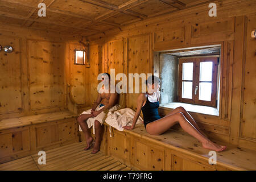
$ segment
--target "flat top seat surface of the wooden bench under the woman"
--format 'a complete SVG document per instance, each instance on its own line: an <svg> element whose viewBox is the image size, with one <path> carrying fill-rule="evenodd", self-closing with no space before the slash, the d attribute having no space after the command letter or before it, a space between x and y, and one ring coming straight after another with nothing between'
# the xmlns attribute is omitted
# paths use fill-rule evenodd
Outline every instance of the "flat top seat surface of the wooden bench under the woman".
<svg viewBox="0 0 256 182"><path fill-rule="evenodd" d="M170 148L177 152L183 152L189 156L201 158L203 160L209 159L209 151L202 147L202 144L191 135L182 131L170 129L162 135L150 135L146 132L144 125L136 125L133 130L124 130L130 135L150 140L161 146ZM238 146L233 146L228 143L218 142L221 145L226 145L226 151L217 153L217 164L234 170L256 170L256 151L249 150Z"/></svg>

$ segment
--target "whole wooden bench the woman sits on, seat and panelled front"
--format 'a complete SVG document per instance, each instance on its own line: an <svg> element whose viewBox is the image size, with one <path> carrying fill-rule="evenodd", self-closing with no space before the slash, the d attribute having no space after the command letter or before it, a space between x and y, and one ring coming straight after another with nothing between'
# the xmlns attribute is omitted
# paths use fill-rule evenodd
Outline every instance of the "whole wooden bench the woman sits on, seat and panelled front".
<svg viewBox="0 0 256 182"><path fill-rule="evenodd" d="M201 143L182 131L169 130L154 136L146 133L144 125L133 130L118 131L105 123L106 155L122 160L127 166L140 170L256 170L256 152L228 146L216 152L217 165L210 165L209 151Z"/></svg>

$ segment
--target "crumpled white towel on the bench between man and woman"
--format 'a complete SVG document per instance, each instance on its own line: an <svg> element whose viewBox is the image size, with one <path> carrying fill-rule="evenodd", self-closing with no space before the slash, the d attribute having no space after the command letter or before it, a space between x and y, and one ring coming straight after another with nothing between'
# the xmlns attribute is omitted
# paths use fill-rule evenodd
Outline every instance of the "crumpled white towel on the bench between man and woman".
<svg viewBox="0 0 256 182"><path fill-rule="evenodd" d="M108 117L105 119L105 122L110 126L114 127L119 131L123 131L123 126L131 126L133 124L133 118L135 111L130 108L120 109L114 112L108 113ZM136 124L141 124L143 119L139 116ZM111 135L111 133L110 133Z"/></svg>

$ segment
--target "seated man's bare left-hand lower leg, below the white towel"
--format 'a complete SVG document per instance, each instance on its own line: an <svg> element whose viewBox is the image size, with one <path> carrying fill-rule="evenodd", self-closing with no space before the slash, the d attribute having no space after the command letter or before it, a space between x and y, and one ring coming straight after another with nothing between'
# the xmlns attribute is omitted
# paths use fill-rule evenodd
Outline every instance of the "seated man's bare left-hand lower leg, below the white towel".
<svg viewBox="0 0 256 182"><path fill-rule="evenodd" d="M79 122L82 132L84 133L84 136L86 138L87 146L89 146L93 140L92 135L90 134L90 130L88 129L88 125L86 123L86 120L91 117L93 117L92 114L81 114L77 118L77 121Z"/></svg>

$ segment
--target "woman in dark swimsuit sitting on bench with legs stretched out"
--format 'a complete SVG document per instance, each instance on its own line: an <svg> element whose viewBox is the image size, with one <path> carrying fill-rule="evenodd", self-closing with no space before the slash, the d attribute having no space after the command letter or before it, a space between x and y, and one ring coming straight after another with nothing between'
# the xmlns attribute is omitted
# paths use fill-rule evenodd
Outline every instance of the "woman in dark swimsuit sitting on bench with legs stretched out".
<svg viewBox="0 0 256 182"><path fill-rule="evenodd" d="M146 84L147 93L141 93L137 98L137 112L133 119L133 125L124 126L124 129L131 130L134 128L142 110L144 126L147 133L151 135L160 135L178 122L182 129L198 139L203 144L204 148L214 151L226 150L226 146L219 146L205 137L195 120L183 107L177 107L165 117L160 118L158 114L160 80L156 76L151 76L148 77Z"/></svg>

